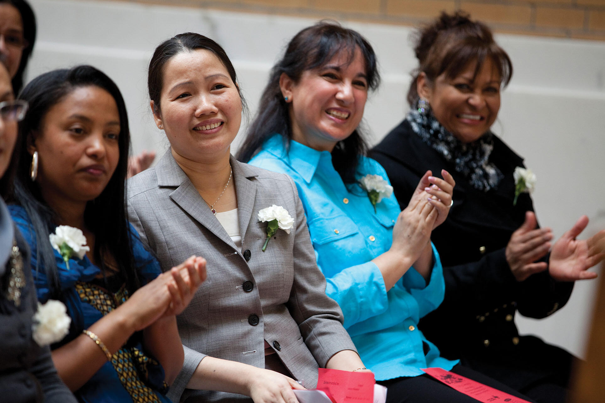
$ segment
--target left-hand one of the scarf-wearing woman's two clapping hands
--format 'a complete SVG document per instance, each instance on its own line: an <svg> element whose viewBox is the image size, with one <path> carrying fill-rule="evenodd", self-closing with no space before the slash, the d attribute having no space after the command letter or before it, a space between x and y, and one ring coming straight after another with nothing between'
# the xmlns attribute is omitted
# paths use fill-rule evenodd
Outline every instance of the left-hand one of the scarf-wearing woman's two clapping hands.
<svg viewBox="0 0 605 403"><path fill-rule="evenodd" d="M546 256L550 250L552 231L551 228L536 228L537 225L534 212L527 211L525 221L512 233L506 245L506 262L518 282L548 267L546 262L535 261Z"/></svg>

